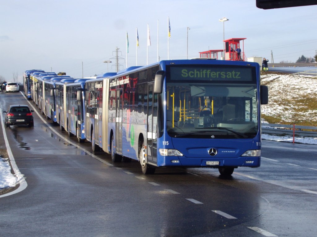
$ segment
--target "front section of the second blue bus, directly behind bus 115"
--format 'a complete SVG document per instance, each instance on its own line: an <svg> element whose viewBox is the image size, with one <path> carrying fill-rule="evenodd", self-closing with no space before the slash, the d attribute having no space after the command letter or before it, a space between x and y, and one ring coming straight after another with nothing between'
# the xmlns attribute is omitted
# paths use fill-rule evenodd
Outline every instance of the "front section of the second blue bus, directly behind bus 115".
<svg viewBox="0 0 317 237"><path fill-rule="evenodd" d="M66 108L68 111L66 118L66 127L68 135L76 135L78 142L85 141L85 122L84 122L84 98L85 82L88 79L76 79L74 83L67 83L66 86Z"/></svg>

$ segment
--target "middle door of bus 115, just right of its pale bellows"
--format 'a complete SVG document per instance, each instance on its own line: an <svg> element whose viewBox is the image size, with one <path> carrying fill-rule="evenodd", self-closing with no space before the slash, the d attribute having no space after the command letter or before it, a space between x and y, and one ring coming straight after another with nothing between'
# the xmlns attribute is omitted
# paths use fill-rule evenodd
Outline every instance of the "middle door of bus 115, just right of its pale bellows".
<svg viewBox="0 0 317 237"><path fill-rule="evenodd" d="M123 115L123 89L117 90L116 96L116 153L122 154L122 115Z"/></svg>

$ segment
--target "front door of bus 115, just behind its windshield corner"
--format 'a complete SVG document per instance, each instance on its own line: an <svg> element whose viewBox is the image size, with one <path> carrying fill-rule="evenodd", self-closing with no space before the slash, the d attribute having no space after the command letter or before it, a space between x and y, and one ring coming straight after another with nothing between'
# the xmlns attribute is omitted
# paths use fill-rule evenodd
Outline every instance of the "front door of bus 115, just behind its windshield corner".
<svg viewBox="0 0 317 237"><path fill-rule="evenodd" d="M158 94L153 93L153 85L148 84L147 96L147 161L157 164Z"/></svg>

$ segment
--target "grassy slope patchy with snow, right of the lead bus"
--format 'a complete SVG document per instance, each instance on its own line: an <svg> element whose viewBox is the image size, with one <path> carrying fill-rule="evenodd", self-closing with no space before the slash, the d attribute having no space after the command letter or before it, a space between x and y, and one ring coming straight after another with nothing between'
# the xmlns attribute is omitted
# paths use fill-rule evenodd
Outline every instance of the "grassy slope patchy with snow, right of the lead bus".
<svg viewBox="0 0 317 237"><path fill-rule="evenodd" d="M272 124L317 126L317 79L286 73L261 72L269 102L262 105L262 120Z"/></svg>

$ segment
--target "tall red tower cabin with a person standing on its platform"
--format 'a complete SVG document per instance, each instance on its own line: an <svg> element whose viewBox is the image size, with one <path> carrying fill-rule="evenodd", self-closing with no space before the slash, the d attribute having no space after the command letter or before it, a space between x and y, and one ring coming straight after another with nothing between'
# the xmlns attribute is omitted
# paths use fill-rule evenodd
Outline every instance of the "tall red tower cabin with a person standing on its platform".
<svg viewBox="0 0 317 237"><path fill-rule="evenodd" d="M247 57L244 54L244 40L246 38L231 38L229 40L224 40L225 42L225 55L226 55L226 60L230 61L248 61ZM242 47L240 44L240 41L242 40ZM238 59L238 54L236 52L236 49L238 46L241 49L241 59Z"/></svg>

